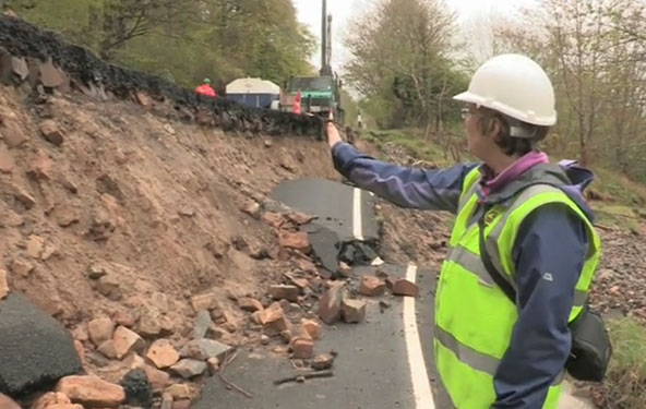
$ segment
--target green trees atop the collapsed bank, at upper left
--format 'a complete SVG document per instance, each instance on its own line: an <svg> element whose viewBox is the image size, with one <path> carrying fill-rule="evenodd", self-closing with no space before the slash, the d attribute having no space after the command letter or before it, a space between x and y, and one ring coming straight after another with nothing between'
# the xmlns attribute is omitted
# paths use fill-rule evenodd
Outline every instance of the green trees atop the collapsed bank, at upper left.
<svg viewBox="0 0 646 409"><path fill-rule="evenodd" d="M282 85L313 74L315 44L291 0L7 0L26 21L101 58L188 87L208 76L222 93L231 80Z"/></svg>

